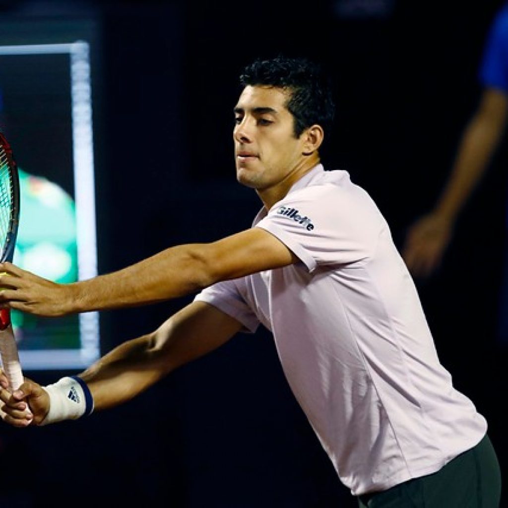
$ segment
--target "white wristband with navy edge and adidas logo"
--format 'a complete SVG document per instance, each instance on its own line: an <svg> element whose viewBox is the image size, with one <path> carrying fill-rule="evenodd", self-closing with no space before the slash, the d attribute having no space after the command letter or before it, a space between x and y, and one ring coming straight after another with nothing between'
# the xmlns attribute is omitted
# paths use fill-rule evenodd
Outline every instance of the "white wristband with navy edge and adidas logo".
<svg viewBox="0 0 508 508"><path fill-rule="evenodd" d="M93 411L93 399L86 383L77 376L62 377L53 385L43 387L49 395L49 411L39 424L77 420Z"/></svg>

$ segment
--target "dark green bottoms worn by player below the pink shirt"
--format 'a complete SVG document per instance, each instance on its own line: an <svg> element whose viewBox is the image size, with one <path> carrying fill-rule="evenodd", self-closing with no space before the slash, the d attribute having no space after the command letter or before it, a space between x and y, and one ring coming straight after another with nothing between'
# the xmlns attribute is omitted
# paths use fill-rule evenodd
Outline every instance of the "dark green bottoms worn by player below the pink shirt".
<svg viewBox="0 0 508 508"><path fill-rule="evenodd" d="M498 508L501 471L485 436L439 471L360 496L360 508Z"/></svg>

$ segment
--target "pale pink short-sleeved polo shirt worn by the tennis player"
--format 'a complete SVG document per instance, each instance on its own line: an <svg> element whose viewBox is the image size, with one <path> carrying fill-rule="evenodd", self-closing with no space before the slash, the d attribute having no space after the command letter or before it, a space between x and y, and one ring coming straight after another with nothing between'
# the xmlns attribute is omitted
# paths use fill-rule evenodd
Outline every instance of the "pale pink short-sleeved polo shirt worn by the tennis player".
<svg viewBox="0 0 508 508"><path fill-rule="evenodd" d="M435 472L483 438L487 423L439 363L384 217L347 172L316 166L253 227L301 262L196 299L273 333L288 383L353 495Z"/></svg>

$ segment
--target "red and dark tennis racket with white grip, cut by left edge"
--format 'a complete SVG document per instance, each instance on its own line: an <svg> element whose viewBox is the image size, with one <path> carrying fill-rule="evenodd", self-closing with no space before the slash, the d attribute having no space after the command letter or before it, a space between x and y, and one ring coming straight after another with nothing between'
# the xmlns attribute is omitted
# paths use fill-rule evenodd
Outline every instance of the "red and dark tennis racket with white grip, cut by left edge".
<svg viewBox="0 0 508 508"><path fill-rule="evenodd" d="M19 222L19 177L12 150L0 133L0 262L12 261ZM10 309L0 309L0 355L11 393L23 383Z"/></svg>

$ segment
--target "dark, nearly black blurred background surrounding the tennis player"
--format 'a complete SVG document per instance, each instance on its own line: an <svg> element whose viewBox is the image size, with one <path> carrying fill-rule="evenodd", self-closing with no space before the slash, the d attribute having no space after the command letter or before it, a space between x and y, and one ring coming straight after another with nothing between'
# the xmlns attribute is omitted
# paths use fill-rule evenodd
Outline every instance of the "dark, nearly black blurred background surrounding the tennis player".
<svg viewBox="0 0 508 508"><path fill-rule="evenodd" d="M47 26L47 40L56 25L93 26L105 273L170 245L250 226L260 202L234 176L237 76L251 59L278 53L310 56L330 70L338 114L325 166L349 171L369 192L400 247L448 175L479 98L484 38L501 5L2 0L0 22ZM22 35L14 39L19 44ZM440 359L487 418L504 475L507 355L495 330L506 156L502 148L464 210L440 270L417 281ZM102 313L102 352L152 330L191 300ZM47 384L68 373L30 375ZM238 335L114 410L45 428L3 425L0 458L0 505L8 508L356 506L263 330Z"/></svg>

